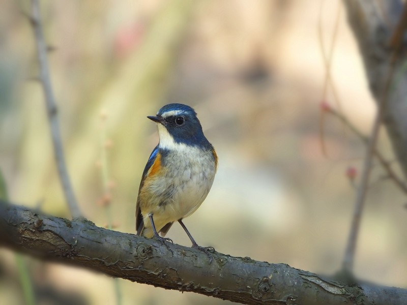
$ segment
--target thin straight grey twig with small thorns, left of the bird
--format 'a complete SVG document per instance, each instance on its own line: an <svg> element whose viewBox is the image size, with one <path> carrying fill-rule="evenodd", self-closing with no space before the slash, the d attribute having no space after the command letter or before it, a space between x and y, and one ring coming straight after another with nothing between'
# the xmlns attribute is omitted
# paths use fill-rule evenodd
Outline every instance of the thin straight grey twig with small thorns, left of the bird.
<svg viewBox="0 0 407 305"><path fill-rule="evenodd" d="M68 169L65 163L64 149L62 145L61 132L57 117L57 108L55 98L51 86L49 76L49 67L47 59L47 46L45 44L44 35L42 33L41 15L39 0L32 0L32 16L31 23L33 24L35 40L37 43L38 61L40 64L40 78L45 96L47 107L48 121L54 150L54 158L56 167L60 176L62 188L65 193L65 198L71 215L73 218L79 217L80 209L72 189L71 181L68 174Z"/></svg>

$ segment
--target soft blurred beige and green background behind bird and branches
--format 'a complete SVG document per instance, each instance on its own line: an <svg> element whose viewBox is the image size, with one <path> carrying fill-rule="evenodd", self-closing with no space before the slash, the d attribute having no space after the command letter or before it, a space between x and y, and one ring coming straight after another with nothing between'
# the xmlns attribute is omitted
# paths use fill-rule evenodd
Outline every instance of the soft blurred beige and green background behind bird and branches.
<svg viewBox="0 0 407 305"><path fill-rule="evenodd" d="M11 201L70 217L56 173L31 2L0 0L0 169ZM167 104L195 108L216 147L212 191L186 226L201 246L331 275L351 223L364 145L321 112L329 48L341 109L363 133L375 104L338 0L42 0L67 166L84 216L135 233L144 165L158 142L146 118ZM321 13L321 14L320 14ZM321 137L321 127L324 137ZM322 143L327 154L324 155ZM380 149L394 160L385 131ZM104 167L107 165L107 168ZM102 169L107 169L103 174ZM405 196L374 166L355 273L407 286ZM104 182L107 189L104 187ZM111 197L109 206L103 203ZM190 245L179 225L168 235ZM113 280L24 257L39 304L115 302ZM0 303L23 304L16 255L0 249ZM118 280L123 304L224 304Z"/></svg>

